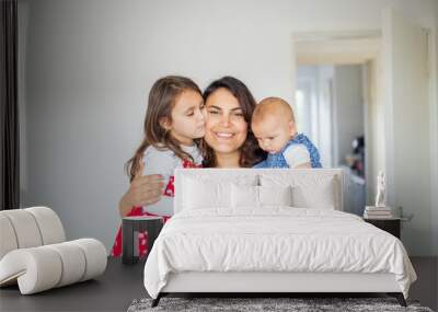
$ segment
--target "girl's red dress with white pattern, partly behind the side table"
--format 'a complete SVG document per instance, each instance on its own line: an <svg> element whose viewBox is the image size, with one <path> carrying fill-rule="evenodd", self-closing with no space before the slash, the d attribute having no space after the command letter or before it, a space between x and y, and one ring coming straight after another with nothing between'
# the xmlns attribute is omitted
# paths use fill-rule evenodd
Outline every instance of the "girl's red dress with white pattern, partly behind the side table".
<svg viewBox="0 0 438 312"><path fill-rule="evenodd" d="M183 167L201 167L201 165L194 164L191 161L184 160L183 161ZM170 196L174 197L175 196L175 187L173 185L175 181L175 177L171 175L169 178L169 183L164 188L163 196ZM140 217L140 216L151 216L151 217L159 217L157 215L150 213L148 211L143 211L142 207L132 207L132 209L129 211L126 217ZM168 220L171 218L170 216L161 216L163 218L163 222L168 222ZM148 232L145 231L142 233L138 233L138 251L139 251L139 257L142 258L148 254ZM118 228L116 239L114 241L113 249L111 251L112 256L120 256L122 255L122 226Z"/></svg>

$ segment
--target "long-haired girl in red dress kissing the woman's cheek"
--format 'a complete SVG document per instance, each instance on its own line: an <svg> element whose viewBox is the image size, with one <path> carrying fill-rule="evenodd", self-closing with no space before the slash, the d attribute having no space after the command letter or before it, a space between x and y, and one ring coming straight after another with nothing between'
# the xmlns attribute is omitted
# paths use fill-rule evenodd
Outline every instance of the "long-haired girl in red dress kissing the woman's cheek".
<svg viewBox="0 0 438 312"><path fill-rule="evenodd" d="M203 96L188 78L168 76L159 79L149 93L145 118L145 138L127 169L130 181L139 169L143 174L161 174L164 196L147 207L134 207L127 216L160 216L164 222L173 215L173 171L198 167L203 158L195 139L204 137ZM139 255L147 254L147 233L139 234ZM113 256L122 255L122 231L117 232Z"/></svg>

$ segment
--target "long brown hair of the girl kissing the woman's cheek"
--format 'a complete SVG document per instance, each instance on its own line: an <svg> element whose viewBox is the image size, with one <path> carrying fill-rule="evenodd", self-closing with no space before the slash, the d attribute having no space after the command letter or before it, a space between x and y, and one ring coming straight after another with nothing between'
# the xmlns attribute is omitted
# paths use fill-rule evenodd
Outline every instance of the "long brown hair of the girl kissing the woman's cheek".
<svg viewBox="0 0 438 312"><path fill-rule="evenodd" d="M169 122L172 122L171 113L176 100L187 90L195 91L201 95L201 91L195 82L181 76L163 77L152 85L145 117L143 140L134 157L125 165L130 181L136 175L140 160L149 146L153 146L157 149L170 149L178 158L193 161L192 157L182 150L180 142L160 123L162 118L168 118Z"/></svg>

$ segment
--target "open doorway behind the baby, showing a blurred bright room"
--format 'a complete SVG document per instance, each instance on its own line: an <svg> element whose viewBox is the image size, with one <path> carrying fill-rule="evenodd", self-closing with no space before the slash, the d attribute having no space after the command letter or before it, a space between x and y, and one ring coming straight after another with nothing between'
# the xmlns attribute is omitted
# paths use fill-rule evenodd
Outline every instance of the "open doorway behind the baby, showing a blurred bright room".
<svg viewBox="0 0 438 312"><path fill-rule="evenodd" d="M373 203L373 176L384 169L383 139L376 136L383 129L380 35L307 34L295 42L295 51L298 129L319 148L323 166L343 169L344 210L362 216Z"/></svg>

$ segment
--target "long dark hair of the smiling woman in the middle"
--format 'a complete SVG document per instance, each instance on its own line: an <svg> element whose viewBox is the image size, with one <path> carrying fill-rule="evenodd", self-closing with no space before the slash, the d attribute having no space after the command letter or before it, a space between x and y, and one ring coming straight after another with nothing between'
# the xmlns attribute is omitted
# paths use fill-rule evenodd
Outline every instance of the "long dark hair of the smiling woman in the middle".
<svg viewBox="0 0 438 312"><path fill-rule="evenodd" d="M251 167L266 158L266 152L258 148L257 140L255 139L254 134L251 130L251 118L256 105L254 96L251 94L250 90L242 81L237 78L227 76L211 82L210 85L207 86L203 94L204 103L207 103L208 96L210 96L219 89L228 90L235 99L238 99L240 107L242 108L243 118L247 123L249 127L246 140L240 148L241 155L239 160L239 165L242 167ZM215 151L207 145L205 139L201 139L200 141L200 149L204 157L203 165L205 167L216 166L217 160Z"/></svg>

